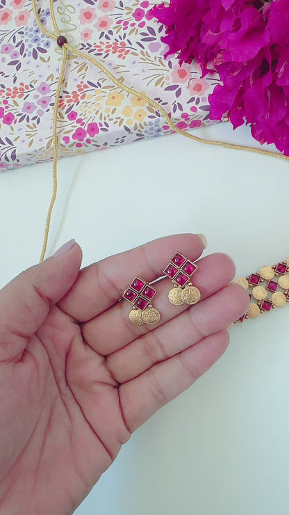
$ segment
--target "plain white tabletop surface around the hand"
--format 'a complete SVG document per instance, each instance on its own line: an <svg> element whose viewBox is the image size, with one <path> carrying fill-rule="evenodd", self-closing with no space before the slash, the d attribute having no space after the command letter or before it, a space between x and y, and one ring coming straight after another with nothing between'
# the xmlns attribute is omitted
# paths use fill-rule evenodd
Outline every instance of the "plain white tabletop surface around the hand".
<svg viewBox="0 0 289 515"><path fill-rule="evenodd" d="M225 124L195 134L253 143ZM288 258L288 162L175 134L63 159L58 177L49 252L74 237L83 265L174 232L203 232L237 276ZM0 184L1 287L38 262L51 163ZM222 359L132 436L76 515L288 515L288 319L286 306L233 326Z"/></svg>

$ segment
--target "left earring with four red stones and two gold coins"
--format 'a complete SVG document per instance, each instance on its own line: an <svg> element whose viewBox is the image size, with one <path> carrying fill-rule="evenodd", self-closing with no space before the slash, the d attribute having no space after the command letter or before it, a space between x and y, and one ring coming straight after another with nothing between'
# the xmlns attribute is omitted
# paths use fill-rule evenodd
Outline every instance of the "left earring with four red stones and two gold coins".
<svg viewBox="0 0 289 515"><path fill-rule="evenodd" d="M154 325L160 321L160 312L153 308L151 303L155 294L156 290L149 283L135 277L122 295L126 301L133 304L129 319L136 326L141 326L144 323Z"/></svg>

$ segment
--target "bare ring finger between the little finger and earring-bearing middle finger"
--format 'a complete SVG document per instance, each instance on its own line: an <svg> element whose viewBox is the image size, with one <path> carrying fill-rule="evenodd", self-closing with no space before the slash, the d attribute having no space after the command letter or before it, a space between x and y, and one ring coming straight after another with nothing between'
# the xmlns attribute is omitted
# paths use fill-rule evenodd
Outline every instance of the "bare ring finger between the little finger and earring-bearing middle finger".
<svg viewBox="0 0 289 515"><path fill-rule="evenodd" d="M249 296L231 284L192 306L167 324L147 333L107 359L108 370L119 383L129 381L159 361L179 354L206 336L226 328L246 312Z"/></svg>

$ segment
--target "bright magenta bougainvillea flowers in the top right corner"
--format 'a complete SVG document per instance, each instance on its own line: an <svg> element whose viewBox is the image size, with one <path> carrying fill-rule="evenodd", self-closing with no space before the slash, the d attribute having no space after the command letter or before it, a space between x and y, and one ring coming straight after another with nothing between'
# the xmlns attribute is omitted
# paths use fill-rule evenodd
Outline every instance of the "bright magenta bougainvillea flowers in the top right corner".
<svg viewBox="0 0 289 515"><path fill-rule="evenodd" d="M288 0L171 0L151 12L166 26L167 55L220 75L210 118L246 123L289 155Z"/></svg>

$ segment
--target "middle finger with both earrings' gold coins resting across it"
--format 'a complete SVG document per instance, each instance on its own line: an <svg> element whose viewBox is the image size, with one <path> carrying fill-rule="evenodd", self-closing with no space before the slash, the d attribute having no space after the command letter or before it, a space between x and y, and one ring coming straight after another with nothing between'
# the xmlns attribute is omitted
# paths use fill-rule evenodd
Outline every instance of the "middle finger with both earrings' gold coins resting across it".
<svg viewBox="0 0 289 515"><path fill-rule="evenodd" d="M198 269L193 275L193 283L201 292L201 299L217 292L230 283L235 275L235 266L225 254L211 254L197 262ZM172 281L168 278L158 281L154 285L157 293L154 297L154 307L161 314L160 323L176 317L188 308L188 305L173 306L167 299L172 288ZM155 300L156 299L156 300ZM110 310L101 313L99 317L86 322L82 326L83 338L94 349L106 356L121 349L140 335L151 331L151 326L143 324L135 326L129 320L128 302L115 304ZM107 328L110 328L109 332Z"/></svg>

